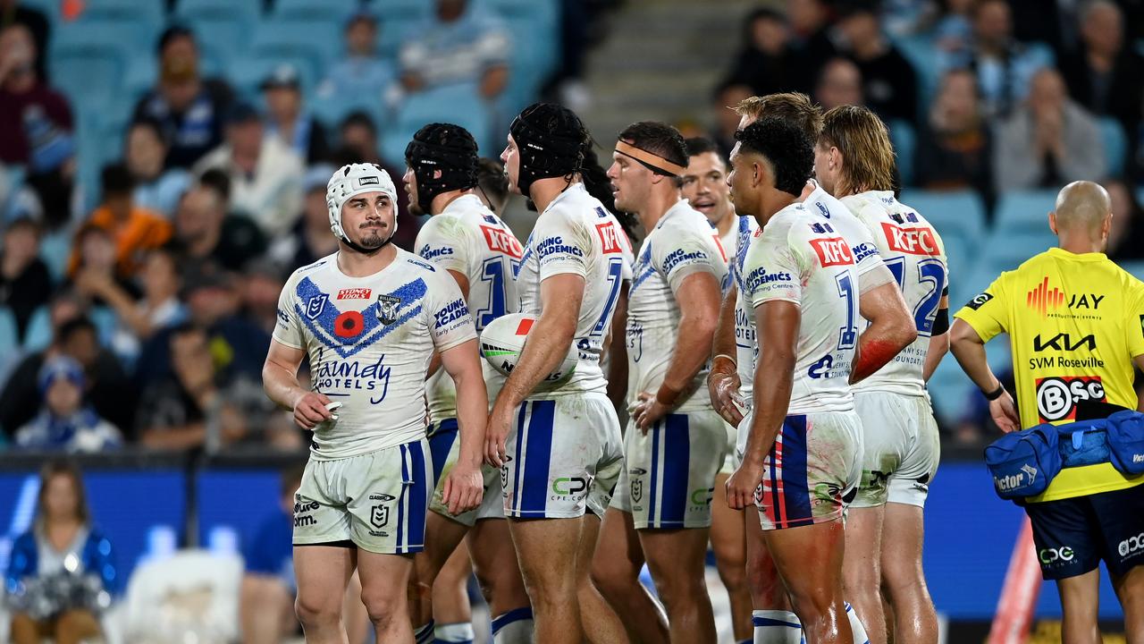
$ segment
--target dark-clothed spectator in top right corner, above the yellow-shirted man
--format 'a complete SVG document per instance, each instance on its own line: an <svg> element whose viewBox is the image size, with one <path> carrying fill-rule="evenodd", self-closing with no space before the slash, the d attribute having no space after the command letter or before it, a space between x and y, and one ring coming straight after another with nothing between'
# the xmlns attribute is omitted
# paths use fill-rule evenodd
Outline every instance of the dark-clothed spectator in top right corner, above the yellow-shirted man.
<svg viewBox="0 0 1144 644"><path fill-rule="evenodd" d="M1110 0L1086 5L1080 40L1080 50L1059 65L1070 96L1096 116L1119 120L1130 136L1144 110L1144 60L1125 44L1120 7Z"/></svg>

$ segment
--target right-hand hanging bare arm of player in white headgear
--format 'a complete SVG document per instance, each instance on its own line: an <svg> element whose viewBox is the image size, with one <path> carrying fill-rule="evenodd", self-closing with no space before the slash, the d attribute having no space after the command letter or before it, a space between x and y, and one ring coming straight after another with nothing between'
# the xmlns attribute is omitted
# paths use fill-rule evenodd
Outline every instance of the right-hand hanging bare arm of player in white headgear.
<svg viewBox="0 0 1144 644"><path fill-rule="evenodd" d="M439 353L440 363L456 385L456 421L461 432L461 454L445 480L445 504L456 515L480 504L484 479L480 474L488 394L471 339Z"/></svg>

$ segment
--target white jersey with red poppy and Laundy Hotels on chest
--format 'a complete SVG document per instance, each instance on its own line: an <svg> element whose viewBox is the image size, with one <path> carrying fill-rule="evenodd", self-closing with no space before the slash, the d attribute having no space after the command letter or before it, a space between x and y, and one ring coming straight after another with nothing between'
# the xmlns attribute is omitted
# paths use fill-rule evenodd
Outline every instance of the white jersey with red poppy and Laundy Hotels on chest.
<svg viewBox="0 0 1144 644"><path fill-rule="evenodd" d="M373 275L350 277L337 253L291 275L273 338L310 358L313 391L342 407L315 427L311 455L345 458L426 435L426 369L434 350L477 337L456 282L397 249Z"/></svg>

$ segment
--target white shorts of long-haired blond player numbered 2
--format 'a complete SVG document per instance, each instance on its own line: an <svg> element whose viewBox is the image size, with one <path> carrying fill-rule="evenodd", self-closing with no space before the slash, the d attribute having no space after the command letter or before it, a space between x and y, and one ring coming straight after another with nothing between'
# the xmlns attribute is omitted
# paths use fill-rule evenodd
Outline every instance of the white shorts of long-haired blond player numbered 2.
<svg viewBox="0 0 1144 644"><path fill-rule="evenodd" d="M855 508L906 503L923 508L942 443L925 396L855 393L863 425L863 473Z"/></svg>

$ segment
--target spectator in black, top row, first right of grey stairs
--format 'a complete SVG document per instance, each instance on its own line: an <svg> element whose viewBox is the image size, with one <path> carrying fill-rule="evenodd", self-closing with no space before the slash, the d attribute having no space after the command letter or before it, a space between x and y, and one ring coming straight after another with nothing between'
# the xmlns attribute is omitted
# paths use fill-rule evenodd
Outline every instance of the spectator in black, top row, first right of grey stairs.
<svg viewBox="0 0 1144 644"><path fill-rule="evenodd" d="M786 92L793 86L794 61L786 16L770 7L760 7L747 16L745 46L728 78L750 86L756 96Z"/></svg>

